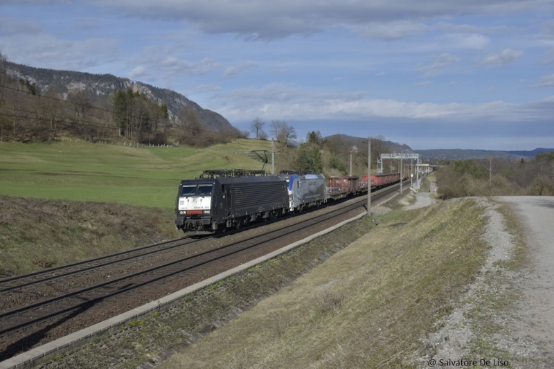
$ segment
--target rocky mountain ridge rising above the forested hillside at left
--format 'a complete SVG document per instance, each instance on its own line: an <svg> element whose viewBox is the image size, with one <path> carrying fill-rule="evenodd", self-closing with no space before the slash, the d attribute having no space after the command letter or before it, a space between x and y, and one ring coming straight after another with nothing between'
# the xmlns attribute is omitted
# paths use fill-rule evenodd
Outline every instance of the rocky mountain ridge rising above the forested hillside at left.
<svg viewBox="0 0 554 369"><path fill-rule="evenodd" d="M23 78L29 82L35 82L44 91L53 89L63 98L70 93L82 91L91 100L107 109L111 108L111 97L117 90L132 89L144 93L155 102L166 102L170 116L176 116L182 107L190 106L197 112L200 121L206 129L220 131L224 128L234 127L215 111L203 109L196 102L188 100L185 96L170 89L159 89L142 82L134 82L128 78L116 77L111 74L91 74L75 71L56 71L54 69L34 68L23 64L7 63L8 75L12 78Z"/></svg>

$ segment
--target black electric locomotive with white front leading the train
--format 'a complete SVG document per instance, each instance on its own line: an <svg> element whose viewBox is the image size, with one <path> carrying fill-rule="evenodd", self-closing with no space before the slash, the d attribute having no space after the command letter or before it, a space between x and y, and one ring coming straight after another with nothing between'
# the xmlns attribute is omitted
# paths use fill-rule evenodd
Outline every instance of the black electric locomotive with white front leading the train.
<svg viewBox="0 0 554 369"><path fill-rule="evenodd" d="M289 208L287 183L277 176L190 179L181 181L175 226L185 233L215 233Z"/></svg>

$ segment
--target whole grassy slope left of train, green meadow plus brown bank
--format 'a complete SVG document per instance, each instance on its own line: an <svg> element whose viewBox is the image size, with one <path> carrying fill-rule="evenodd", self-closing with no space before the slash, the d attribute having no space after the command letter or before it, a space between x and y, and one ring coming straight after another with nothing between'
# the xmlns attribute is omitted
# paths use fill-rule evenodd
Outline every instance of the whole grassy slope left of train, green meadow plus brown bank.
<svg viewBox="0 0 554 369"><path fill-rule="evenodd" d="M0 143L0 278L179 237L179 181L206 169L260 169L237 152L268 145Z"/></svg>

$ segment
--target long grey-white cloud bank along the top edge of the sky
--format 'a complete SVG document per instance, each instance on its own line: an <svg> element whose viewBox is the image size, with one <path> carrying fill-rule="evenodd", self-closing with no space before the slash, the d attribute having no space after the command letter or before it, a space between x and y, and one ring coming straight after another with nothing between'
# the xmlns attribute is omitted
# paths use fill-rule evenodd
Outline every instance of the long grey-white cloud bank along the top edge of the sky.
<svg viewBox="0 0 554 369"><path fill-rule="evenodd" d="M397 39L425 30L425 21L438 18L506 15L551 7L550 1L537 0L101 0L94 4L134 17L182 19L205 33L232 33L247 39L277 39L334 27L357 30L365 37Z"/></svg>

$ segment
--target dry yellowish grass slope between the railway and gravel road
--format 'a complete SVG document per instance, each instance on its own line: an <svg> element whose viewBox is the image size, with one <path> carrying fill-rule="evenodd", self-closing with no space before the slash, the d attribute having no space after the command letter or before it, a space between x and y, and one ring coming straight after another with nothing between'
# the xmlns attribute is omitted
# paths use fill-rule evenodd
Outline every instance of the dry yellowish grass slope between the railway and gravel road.
<svg viewBox="0 0 554 369"><path fill-rule="evenodd" d="M484 260L482 210L395 210L348 248L161 368L409 367Z"/></svg>

